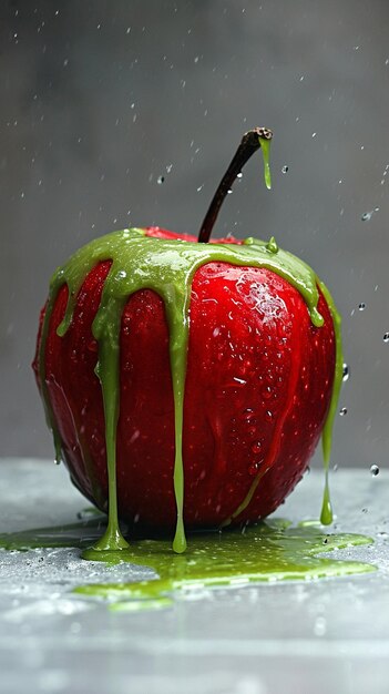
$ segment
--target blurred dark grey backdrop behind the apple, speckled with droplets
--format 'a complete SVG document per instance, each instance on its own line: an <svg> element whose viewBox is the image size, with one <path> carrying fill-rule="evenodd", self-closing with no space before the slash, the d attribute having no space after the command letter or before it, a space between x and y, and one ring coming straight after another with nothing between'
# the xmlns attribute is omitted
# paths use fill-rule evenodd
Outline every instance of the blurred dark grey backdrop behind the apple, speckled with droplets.
<svg viewBox="0 0 389 694"><path fill-rule="evenodd" d="M266 125L273 191L254 156L215 235L275 235L330 287L331 465L387 467L388 29L387 0L0 3L0 455L53 458L30 368L53 269L115 228L196 233Z"/></svg>

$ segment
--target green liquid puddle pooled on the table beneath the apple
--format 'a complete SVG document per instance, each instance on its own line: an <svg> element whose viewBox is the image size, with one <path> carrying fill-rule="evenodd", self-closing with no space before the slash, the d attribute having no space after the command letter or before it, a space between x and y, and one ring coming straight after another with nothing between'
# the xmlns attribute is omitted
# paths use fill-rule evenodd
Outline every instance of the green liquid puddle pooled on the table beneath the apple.
<svg viewBox="0 0 389 694"><path fill-rule="evenodd" d="M0 535L0 548L25 551L34 548L89 550L106 525L103 516L83 513L85 520L57 528L39 528ZM125 532L125 529L123 529ZM142 582L90 583L74 589L82 595L109 600L112 609L139 611L171 604L174 593L248 583L314 580L375 571L361 562L320 557L323 552L371 544L366 535L329 534L314 522L293 527L285 520L269 520L244 531L196 532L188 535L184 554L172 551L172 539L137 539L122 552L110 553L111 563L122 560L153 569L154 579ZM86 550L86 551L85 551ZM99 553L101 558L101 553ZM92 555L94 558L94 554Z"/></svg>

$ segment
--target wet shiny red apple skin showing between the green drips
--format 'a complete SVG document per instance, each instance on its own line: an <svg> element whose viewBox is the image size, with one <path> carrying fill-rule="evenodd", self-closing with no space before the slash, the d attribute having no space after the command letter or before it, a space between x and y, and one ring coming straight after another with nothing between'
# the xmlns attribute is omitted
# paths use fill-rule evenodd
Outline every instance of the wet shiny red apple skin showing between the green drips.
<svg viewBox="0 0 389 694"><path fill-rule="evenodd" d="M196 241L150 227L150 236ZM217 243L242 243L234 238ZM73 483L108 506L98 344L92 323L111 262L85 277L73 320L57 335L68 298L63 286L50 319L45 379L63 457ZM335 372L332 318L320 294L324 326L315 327L300 294L277 274L209 263L193 278L185 381L183 461L186 528L229 519L263 476L233 523L272 513L294 489L317 446ZM44 308L41 313L37 355ZM120 338L117 425L119 517L173 531L174 406L168 329L152 290L131 296ZM38 386L38 357L33 368Z"/></svg>

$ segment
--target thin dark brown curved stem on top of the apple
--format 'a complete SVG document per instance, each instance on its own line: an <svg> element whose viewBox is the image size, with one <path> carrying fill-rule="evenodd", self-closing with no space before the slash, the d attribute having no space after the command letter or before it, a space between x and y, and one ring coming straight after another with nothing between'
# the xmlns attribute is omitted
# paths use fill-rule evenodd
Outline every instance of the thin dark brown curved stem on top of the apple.
<svg viewBox="0 0 389 694"><path fill-rule="evenodd" d="M249 157L253 156L254 152L259 150L260 140L272 140L272 137L273 132L268 127L254 127L243 135L242 142L236 150L235 155L226 173L224 174L215 195L212 198L208 212L204 217L204 222L198 233L198 243L208 243L218 212L234 181L240 173L246 162L248 162Z"/></svg>

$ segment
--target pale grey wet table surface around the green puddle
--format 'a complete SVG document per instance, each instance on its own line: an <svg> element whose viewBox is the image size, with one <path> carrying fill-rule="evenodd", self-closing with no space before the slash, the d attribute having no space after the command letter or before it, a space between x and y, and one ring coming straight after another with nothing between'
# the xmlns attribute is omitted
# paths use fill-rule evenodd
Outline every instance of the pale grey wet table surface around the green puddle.
<svg viewBox="0 0 389 694"><path fill-rule="evenodd" d="M48 461L0 461L0 529L71 523L88 506ZM74 549L0 550L0 692L72 694L359 694L389 691L389 473L331 476L336 531L373 545L337 557L369 574L192 591L157 611L112 612L72 589L131 580L131 567ZM316 518L323 473L275 516ZM43 559L42 559L43 558Z"/></svg>

